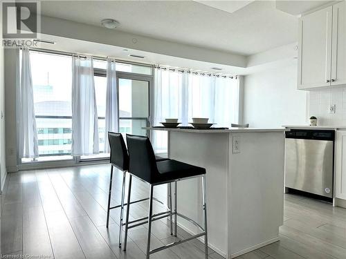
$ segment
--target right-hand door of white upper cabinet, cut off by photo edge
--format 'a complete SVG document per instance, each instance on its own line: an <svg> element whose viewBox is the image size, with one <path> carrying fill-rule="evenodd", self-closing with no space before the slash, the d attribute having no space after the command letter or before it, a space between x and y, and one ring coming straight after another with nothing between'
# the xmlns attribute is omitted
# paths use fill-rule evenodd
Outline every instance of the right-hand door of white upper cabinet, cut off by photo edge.
<svg viewBox="0 0 346 259"><path fill-rule="evenodd" d="M346 5L333 6L333 39L331 55L331 85L346 84Z"/></svg>

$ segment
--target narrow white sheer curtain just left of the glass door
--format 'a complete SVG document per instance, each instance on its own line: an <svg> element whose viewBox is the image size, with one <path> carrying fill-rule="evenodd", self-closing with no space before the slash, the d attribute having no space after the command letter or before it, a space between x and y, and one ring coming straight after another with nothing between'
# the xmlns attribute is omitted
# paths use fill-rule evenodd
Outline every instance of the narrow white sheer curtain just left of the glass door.
<svg viewBox="0 0 346 259"><path fill-rule="evenodd" d="M116 60L107 58L106 122L104 153L109 153L108 131L119 131L118 87L116 84Z"/></svg>

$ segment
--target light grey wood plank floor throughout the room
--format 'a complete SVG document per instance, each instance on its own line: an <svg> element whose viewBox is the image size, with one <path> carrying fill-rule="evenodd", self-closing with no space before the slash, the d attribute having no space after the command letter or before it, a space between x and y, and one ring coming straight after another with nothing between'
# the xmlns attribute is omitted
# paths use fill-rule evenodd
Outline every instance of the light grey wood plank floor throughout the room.
<svg viewBox="0 0 346 259"><path fill-rule="evenodd" d="M110 166L81 166L10 173L1 195L1 254L46 255L46 258L145 258L145 226L129 231L127 252L118 247L118 210L105 227ZM120 202L120 173L115 173L113 203ZM133 198L148 189L134 181ZM147 215L147 203L131 207L131 218ZM154 211L161 209L157 205ZM153 223L152 248L171 242L166 220ZM179 229L179 238L188 233ZM239 259L346 258L346 209L286 195L280 241ZM210 259L222 259L210 250ZM155 253L155 259L203 259L203 244L194 240Z"/></svg>

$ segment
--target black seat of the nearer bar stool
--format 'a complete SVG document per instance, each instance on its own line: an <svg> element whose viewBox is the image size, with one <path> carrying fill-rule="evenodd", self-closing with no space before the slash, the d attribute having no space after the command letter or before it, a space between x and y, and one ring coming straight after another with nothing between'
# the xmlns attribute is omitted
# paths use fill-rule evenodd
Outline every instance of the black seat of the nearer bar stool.
<svg viewBox="0 0 346 259"><path fill-rule="evenodd" d="M156 165L158 175L155 175L150 184L162 184L165 182L173 182L183 178L191 178L206 174L206 169L176 160L165 160L157 162Z"/></svg>

